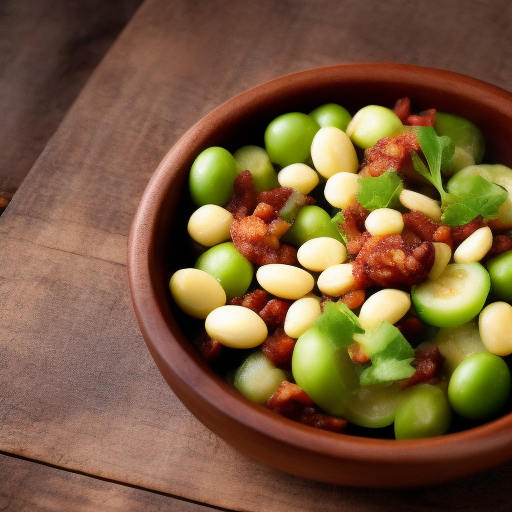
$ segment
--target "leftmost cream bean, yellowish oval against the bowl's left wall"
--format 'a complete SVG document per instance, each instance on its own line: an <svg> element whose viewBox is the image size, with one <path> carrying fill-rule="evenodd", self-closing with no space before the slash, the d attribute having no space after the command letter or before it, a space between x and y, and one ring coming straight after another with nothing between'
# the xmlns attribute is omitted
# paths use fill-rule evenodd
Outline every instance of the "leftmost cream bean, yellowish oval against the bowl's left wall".
<svg viewBox="0 0 512 512"><path fill-rule="evenodd" d="M178 307L194 318L206 318L226 303L226 292L219 281L197 268L175 272L169 281L169 289Z"/></svg>

